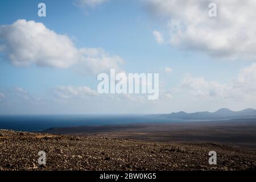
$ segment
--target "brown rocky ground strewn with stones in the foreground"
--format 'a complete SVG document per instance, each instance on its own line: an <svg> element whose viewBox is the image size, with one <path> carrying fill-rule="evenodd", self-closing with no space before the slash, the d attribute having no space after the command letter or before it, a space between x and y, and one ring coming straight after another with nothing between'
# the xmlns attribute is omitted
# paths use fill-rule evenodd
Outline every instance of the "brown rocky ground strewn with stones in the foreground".
<svg viewBox="0 0 256 182"><path fill-rule="evenodd" d="M46 152L46 165L38 152ZM209 165L209 151L217 165ZM164 143L0 130L0 170L245 170L256 153L214 143Z"/></svg>

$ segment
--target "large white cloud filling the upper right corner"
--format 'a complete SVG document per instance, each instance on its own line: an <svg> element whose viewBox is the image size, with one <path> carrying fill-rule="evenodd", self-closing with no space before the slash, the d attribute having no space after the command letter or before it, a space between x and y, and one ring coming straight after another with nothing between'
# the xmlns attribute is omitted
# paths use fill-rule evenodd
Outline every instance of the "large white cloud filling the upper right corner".
<svg viewBox="0 0 256 182"><path fill-rule="evenodd" d="M154 15L166 19L170 43L210 56L231 59L256 57L256 2L253 0L147 0ZM217 17L209 17L216 3Z"/></svg>

